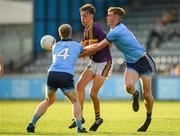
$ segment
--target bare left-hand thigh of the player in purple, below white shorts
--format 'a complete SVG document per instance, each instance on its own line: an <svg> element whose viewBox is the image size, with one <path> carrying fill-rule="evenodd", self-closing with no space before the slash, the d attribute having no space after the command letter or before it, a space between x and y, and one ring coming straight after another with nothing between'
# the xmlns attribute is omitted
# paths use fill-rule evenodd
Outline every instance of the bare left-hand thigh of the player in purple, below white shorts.
<svg viewBox="0 0 180 136"><path fill-rule="evenodd" d="M86 68L81 74L77 82L77 85L85 87L93 79L94 79L94 73L91 70Z"/></svg>

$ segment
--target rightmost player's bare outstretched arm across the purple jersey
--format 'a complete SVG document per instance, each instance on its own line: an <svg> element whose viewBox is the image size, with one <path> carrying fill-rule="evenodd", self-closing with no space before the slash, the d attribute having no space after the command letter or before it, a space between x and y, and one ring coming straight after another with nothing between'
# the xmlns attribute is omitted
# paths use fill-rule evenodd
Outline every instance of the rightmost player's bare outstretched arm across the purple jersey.
<svg viewBox="0 0 180 136"><path fill-rule="evenodd" d="M109 45L111 45L111 43L108 40L104 39L99 43L91 44L89 46L84 47L84 50L86 52L97 52Z"/></svg>

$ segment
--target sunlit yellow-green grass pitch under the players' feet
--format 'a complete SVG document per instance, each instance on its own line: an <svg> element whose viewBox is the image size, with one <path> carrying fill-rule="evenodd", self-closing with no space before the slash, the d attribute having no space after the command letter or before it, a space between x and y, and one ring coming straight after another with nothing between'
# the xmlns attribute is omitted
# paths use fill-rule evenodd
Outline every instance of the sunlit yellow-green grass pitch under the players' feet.
<svg viewBox="0 0 180 136"><path fill-rule="evenodd" d="M136 132L145 119L143 102L139 112L132 111L130 101L113 101L101 103L101 115L104 123L97 132L77 134L75 129L69 129L71 123L71 104L58 101L36 125L36 133L27 133L26 126L31 120L39 101L0 101L0 135L87 135L87 136L166 136L180 135L180 102L155 102L153 120L147 132ZM94 121L91 102L84 107L84 127L89 129Z"/></svg>

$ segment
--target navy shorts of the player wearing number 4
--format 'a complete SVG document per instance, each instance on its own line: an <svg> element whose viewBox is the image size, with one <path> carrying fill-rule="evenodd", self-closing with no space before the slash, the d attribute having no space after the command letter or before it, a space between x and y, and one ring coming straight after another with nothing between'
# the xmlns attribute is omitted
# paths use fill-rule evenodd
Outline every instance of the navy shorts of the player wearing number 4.
<svg viewBox="0 0 180 136"><path fill-rule="evenodd" d="M65 72L50 71L47 78L47 86L50 90L61 89L63 93L74 90L73 75Z"/></svg>

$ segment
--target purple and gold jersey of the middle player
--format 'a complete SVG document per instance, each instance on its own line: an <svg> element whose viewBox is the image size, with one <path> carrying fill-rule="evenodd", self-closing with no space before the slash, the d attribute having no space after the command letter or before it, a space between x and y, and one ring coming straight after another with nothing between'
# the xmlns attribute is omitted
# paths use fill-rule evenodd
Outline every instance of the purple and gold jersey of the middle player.
<svg viewBox="0 0 180 136"><path fill-rule="evenodd" d="M105 38L106 34L102 27L98 23L92 23L84 30L82 43L83 45L90 45L93 43L98 43ZM108 46L96 52L96 54L90 56L90 58L96 63L112 60L110 49Z"/></svg>

